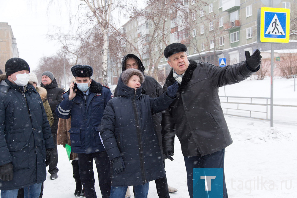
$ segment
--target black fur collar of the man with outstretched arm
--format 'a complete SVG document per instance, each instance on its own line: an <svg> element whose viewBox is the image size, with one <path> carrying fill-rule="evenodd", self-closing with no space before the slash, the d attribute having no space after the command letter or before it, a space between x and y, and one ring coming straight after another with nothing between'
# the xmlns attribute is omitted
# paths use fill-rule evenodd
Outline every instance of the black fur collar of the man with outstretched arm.
<svg viewBox="0 0 297 198"><path fill-rule="evenodd" d="M187 86L192 78L194 70L197 67L197 63L195 61L189 60L189 62L189 67L183 76L183 80L181 81L179 88L185 88ZM174 82L176 82L176 80L173 77L173 70L171 69L168 77L166 78L165 84L167 85L167 87L169 87L170 85L173 85Z"/></svg>

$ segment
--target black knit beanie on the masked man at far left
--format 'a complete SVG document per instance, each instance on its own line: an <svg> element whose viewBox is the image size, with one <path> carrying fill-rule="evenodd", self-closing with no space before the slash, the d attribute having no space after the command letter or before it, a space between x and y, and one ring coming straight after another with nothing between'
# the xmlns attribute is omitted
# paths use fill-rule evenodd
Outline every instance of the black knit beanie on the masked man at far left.
<svg viewBox="0 0 297 198"><path fill-rule="evenodd" d="M30 73L30 67L28 63L21 58L10 58L5 63L5 73L6 76L9 76L15 72L27 70Z"/></svg>

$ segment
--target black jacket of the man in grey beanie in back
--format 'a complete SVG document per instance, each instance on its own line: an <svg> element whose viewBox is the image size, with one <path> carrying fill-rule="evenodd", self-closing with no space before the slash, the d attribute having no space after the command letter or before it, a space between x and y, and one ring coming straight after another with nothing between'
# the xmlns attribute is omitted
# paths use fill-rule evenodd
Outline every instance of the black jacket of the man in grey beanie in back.
<svg viewBox="0 0 297 198"><path fill-rule="evenodd" d="M58 104L60 104L60 102L62 102L63 100L62 95L64 93L64 90L58 87L56 78L54 78L53 82L50 83L49 85L43 85L41 83L40 86L45 88L46 91L48 92L46 97L48 99L48 103L50 104L50 108L53 112L53 117L54 117L54 123L50 128L52 129L52 133L57 133L59 118L55 110Z"/></svg>

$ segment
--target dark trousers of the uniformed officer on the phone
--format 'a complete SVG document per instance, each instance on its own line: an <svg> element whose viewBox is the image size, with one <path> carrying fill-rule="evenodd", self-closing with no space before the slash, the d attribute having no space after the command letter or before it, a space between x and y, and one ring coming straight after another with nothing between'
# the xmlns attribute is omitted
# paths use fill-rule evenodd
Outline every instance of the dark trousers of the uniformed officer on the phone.
<svg viewBox="0 0 297 198"><path fill-rule="evenodd" d="M78 153L79 175L86 198L96 198L93 159L98 172L99 186L102 198L109 198L111 189L110 160L106 151L85 154Z"/></svg>

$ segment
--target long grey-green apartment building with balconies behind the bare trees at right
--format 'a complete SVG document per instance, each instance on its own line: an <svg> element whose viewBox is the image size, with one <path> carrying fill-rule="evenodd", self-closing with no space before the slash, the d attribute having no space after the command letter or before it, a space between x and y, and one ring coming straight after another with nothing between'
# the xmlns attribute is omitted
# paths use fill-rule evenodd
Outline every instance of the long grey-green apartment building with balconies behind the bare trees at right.
<svg viewBox="0 0 297 198"><path fill-rule="evenodd" d="M266 7L260 0L177 0L181 9L164 10L165 28L157 27L145 17L133 18L121 27L127 38L137 47L145 67L154 66L150 63L150 56L158 57L166 47L174 42L181 42L187 46L188 58L195 61L208 61L219 65L218 58L227 58L227 64L234 64L245 60L244 51L260 49L271 50L271 44L257 42L257 11ZM165 2L166 4L166 2ZM161 6L161 5L160 5ZM296 15L297 0L285 0L276 7L290 8ZM151 9L150 5L146 9ZM159 17L159 16L156 16ZM162 21L162 20L161 20ZM154 37L163 37L158 44ZM154 40L154 41L152 41ZM163 41L163 42L162 42ZM274 44L275 50L297 49L296 35L290 36L289 43ZM133 48L127 53L136 53ZM165 57L157 63L158 69L168 74L170 67ZM154 68L152 68L154 69ZM151 74L152 75L152 74Z"/></svg>

